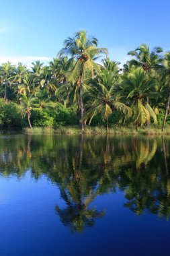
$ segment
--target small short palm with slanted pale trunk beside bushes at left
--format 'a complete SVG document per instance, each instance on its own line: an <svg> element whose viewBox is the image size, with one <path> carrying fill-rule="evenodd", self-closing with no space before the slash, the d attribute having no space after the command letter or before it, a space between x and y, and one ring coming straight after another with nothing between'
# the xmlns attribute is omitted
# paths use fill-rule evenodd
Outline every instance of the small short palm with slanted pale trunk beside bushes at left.
<svg viewBox="0 0 170 256"><path fill-rule="evenodd" d="M28 123L30 128L32 128L30 117L31 117L31 110L35 106L36 98L33 95L26 96L25 94L22 94L21 103L22 108L24 110L24 114L28 117Z"/></svg>

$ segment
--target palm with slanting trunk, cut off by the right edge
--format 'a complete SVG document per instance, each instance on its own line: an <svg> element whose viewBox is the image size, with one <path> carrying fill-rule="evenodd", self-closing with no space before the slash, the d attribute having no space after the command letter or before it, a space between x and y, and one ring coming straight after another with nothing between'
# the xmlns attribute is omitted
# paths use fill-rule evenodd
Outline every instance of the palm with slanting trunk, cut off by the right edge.
<svg viewBox="0 0 170 256"><path fill-rule="evenodd" d="M165 129L165 123L167 120L167 113L169 110L169 102L170 102L170 52L165 54L165 58L163 59L163 80L165 85L165 93L168 95L167 104L165 107L165 115L163 119L163 127L162 131Z"/></svg>

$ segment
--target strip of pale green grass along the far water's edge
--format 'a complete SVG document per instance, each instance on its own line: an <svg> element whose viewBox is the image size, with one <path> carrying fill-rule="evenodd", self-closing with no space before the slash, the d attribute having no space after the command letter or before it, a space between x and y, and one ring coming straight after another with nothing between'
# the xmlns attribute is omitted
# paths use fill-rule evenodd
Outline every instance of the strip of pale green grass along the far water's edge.
<svg viewBox="0 0 170 256"><path fill-rule="evenodd" d="M85 127L83 131L79 129L79 126L61 126L56 129L51 127L33 127L24 128L26 134L107 134L105 127ZM138 131L134 127L110 127L109 134L144 134L144 135L170 135L170 127L166 127L164 131L161 131L161 127L151 128L138 128Z"/></svg>

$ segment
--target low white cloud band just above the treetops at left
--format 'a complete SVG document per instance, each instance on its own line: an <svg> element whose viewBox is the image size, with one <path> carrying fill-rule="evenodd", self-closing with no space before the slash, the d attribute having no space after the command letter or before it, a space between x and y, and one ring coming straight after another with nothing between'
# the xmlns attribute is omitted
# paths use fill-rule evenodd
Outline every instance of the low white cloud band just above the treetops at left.
<svg viewBox="0 0 170 256"><path fill-rule="evenodd" d="M11 62L13 65L17 65L19 62L30 66L34 61L41 61L42 63L47 63L52 61L50 57L38 57L38 56L1 56L0 55L0 65L2 63Z"/></svg>

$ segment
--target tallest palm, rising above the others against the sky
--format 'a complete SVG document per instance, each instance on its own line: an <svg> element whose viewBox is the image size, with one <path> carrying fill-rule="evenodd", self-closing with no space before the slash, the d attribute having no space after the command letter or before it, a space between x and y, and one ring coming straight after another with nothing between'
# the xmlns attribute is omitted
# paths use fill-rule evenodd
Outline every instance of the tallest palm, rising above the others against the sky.
<svg viewBox="0 0 170 256"><path fill-rule="evenodd" d="M107 49L97 48L97 39L87 36L85 30L77 32L73 38L69 37L64 42L64 48L59 52L59 56L67 55L70 57L69 61L75 60L75 65L71 70L69 79L71 82L79 82L79 119L83 117L83 82L85 78L85 71L91 71L91 77L94 75L94 69L99 73L100 68L95 59L101 54L108 54ZM81 129L83 123L80 122Z"/></svg>

